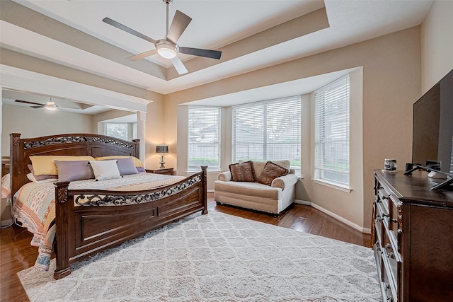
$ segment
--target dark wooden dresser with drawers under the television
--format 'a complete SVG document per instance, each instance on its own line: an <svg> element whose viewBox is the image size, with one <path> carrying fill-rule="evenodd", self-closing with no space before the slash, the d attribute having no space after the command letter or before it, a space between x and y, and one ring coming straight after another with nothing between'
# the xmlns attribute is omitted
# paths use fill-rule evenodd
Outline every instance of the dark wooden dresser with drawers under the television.
<svg viewBox="0 0 453 302"><path fill-rule="evenodd" d="M453 301L453 190L374 171L372 242L383 301Z"/></svg>

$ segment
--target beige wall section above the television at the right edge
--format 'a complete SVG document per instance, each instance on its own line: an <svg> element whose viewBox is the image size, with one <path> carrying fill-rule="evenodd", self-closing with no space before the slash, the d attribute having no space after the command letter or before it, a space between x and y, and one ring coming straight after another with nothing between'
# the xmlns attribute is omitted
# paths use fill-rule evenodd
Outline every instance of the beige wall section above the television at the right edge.
<svg viewBox="0 0 453 302"><path fill-rule="evenodd" d="M435 1L421 26L422 90L453 69L453 1Z"/></svg>

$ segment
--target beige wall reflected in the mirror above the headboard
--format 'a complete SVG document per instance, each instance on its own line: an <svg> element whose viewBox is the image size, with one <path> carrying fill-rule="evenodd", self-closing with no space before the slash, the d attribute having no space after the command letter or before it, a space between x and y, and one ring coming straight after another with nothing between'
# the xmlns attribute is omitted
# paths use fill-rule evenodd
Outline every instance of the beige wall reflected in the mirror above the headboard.
<svg viewBox="0 0 453 302"><path fill-rule="evenodd" d="M96 133L90 115L49 111L25 106L2 106L1 155L9 156L10 133L21 133L21 137L43 137L62 133Z"/></svg>

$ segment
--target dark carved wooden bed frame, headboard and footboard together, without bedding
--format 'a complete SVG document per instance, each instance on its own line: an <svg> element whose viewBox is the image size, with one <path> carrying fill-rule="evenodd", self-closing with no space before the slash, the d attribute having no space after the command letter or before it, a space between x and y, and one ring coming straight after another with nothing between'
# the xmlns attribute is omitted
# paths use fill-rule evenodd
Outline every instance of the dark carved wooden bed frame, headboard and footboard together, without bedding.
<svg viewBox="0 0 453 302"><path fill-rule="evenodd" d="M33 139L11 136L11 196L30 182L30 156L135 156L139 140L123 141L98 134L61 134ZM101 250L202 211L207 214L206 170L172 185L146 191L69 190L55 183L54 278L71 274L71 263Z"/></svg>

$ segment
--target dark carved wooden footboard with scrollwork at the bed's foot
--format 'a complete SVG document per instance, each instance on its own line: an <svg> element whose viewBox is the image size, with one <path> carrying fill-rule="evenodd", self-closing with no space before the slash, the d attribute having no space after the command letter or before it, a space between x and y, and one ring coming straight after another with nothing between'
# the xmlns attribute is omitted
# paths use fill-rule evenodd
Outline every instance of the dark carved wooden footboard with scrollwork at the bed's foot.
<svg viewBox="0 0 453 302"><path fill-rule="evenodd" d="M206 169L154 190L69 190L55 184L57 267L54 278L71 274L71 263L119 245L185 216L207 214Z"/></svg>

